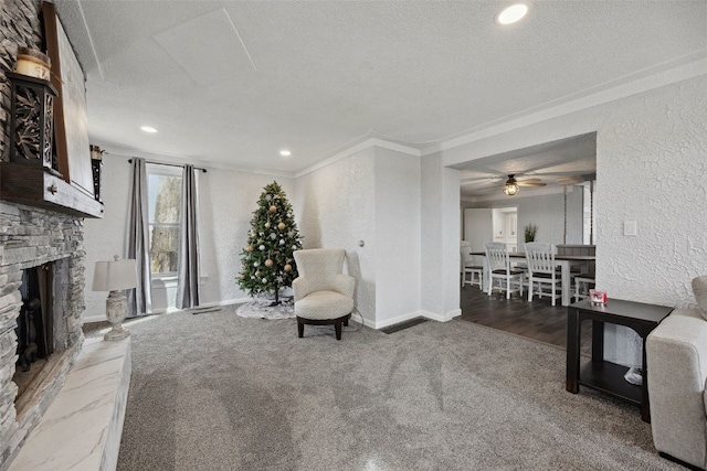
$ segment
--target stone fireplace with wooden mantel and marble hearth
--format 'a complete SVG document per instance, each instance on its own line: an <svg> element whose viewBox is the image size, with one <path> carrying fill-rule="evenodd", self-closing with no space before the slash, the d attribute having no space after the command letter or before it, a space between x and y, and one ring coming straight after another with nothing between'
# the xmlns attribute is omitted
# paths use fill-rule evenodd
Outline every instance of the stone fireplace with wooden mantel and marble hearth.
<svg viewBox="0 0 707 471"><path fill-rule="evenodd" d="M0 1L0 471L115 469L130 378L129 339L84 342L82 331L83 221L103 204L71 167L60 178L9 158L6 71L18 47L45 49L50 6Z"/></svg>

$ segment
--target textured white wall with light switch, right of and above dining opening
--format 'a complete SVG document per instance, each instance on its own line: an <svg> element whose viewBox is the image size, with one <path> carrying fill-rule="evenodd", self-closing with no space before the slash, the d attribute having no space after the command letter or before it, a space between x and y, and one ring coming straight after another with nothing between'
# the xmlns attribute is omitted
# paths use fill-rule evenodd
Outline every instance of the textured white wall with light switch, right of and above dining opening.
<svg viewBox="0 0 707 471"><path fill-rule="evenodd" d="M443 151L445 164L597 131L597 281L610 298L694 303L707 267L707 76ZM623 235L636 221L637 237ZM456 233L455 233L456 234ZM632 363L635 336L608 335L606 356Z"/></svg>

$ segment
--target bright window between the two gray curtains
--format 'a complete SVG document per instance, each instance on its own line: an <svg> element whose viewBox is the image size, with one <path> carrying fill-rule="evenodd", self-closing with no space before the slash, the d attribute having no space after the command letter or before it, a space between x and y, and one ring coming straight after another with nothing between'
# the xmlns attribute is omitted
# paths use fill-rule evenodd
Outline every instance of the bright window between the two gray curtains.
<svg viewBox="0 0 707 471"><path fill-rule="evenodd" d="M150 271L152 278L177 274L181 168L147 165Z"/></svg>

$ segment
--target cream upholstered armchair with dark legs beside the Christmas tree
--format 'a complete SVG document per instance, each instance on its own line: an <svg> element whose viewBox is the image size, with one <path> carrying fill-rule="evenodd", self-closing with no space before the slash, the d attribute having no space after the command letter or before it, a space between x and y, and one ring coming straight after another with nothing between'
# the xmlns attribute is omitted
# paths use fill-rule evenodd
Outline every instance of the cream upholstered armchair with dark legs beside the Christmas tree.
<svg viewBox="0 0 707 471"><path fill-rule="evenodd" d="M354 310L354 277L344 275L342 248L295 250L298 277L292 288L295 299L297 333L302 338L305 324L334 324L336 339L341 340L341 324L348 325Z"/></svg>

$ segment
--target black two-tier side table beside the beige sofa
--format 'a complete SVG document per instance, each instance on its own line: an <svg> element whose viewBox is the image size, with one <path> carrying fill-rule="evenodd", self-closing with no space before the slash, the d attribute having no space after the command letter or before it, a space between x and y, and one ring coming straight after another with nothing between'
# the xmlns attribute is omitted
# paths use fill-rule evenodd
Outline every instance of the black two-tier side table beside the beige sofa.
<svg viewBox="0 0 707 471"><path fill-rule="evenodd" d="M567 308L567 390L579 393L580 384L619 397L641 407L641 417L651 421L648 403L645 339L673 308L642 302L609 299L604 306L592 306L589 300ZM592 321L591 361L580 365L580 335L582 321ZM625 325L643 339L643 384L633 385L624 379L626 366L604 361L604 323Z"/></svg>

